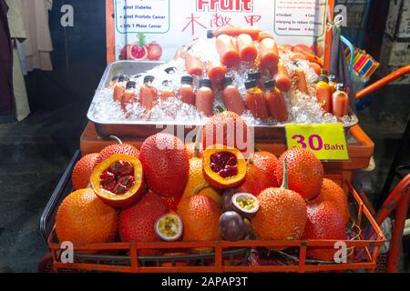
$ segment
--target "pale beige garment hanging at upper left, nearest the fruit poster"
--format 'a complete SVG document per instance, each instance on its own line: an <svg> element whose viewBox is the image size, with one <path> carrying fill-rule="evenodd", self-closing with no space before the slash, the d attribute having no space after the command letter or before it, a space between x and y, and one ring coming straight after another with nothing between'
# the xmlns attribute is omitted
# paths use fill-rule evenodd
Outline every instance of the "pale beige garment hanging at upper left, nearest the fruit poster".
<svg viewBox="0 0 410 291"><path fill-rule="evenodd" d="M50 52L53 51L50 28L48 25L48 10L53 6L52 0L21 0L23 18L26 25L26 69L44 71L53 70Z"/></svg>

